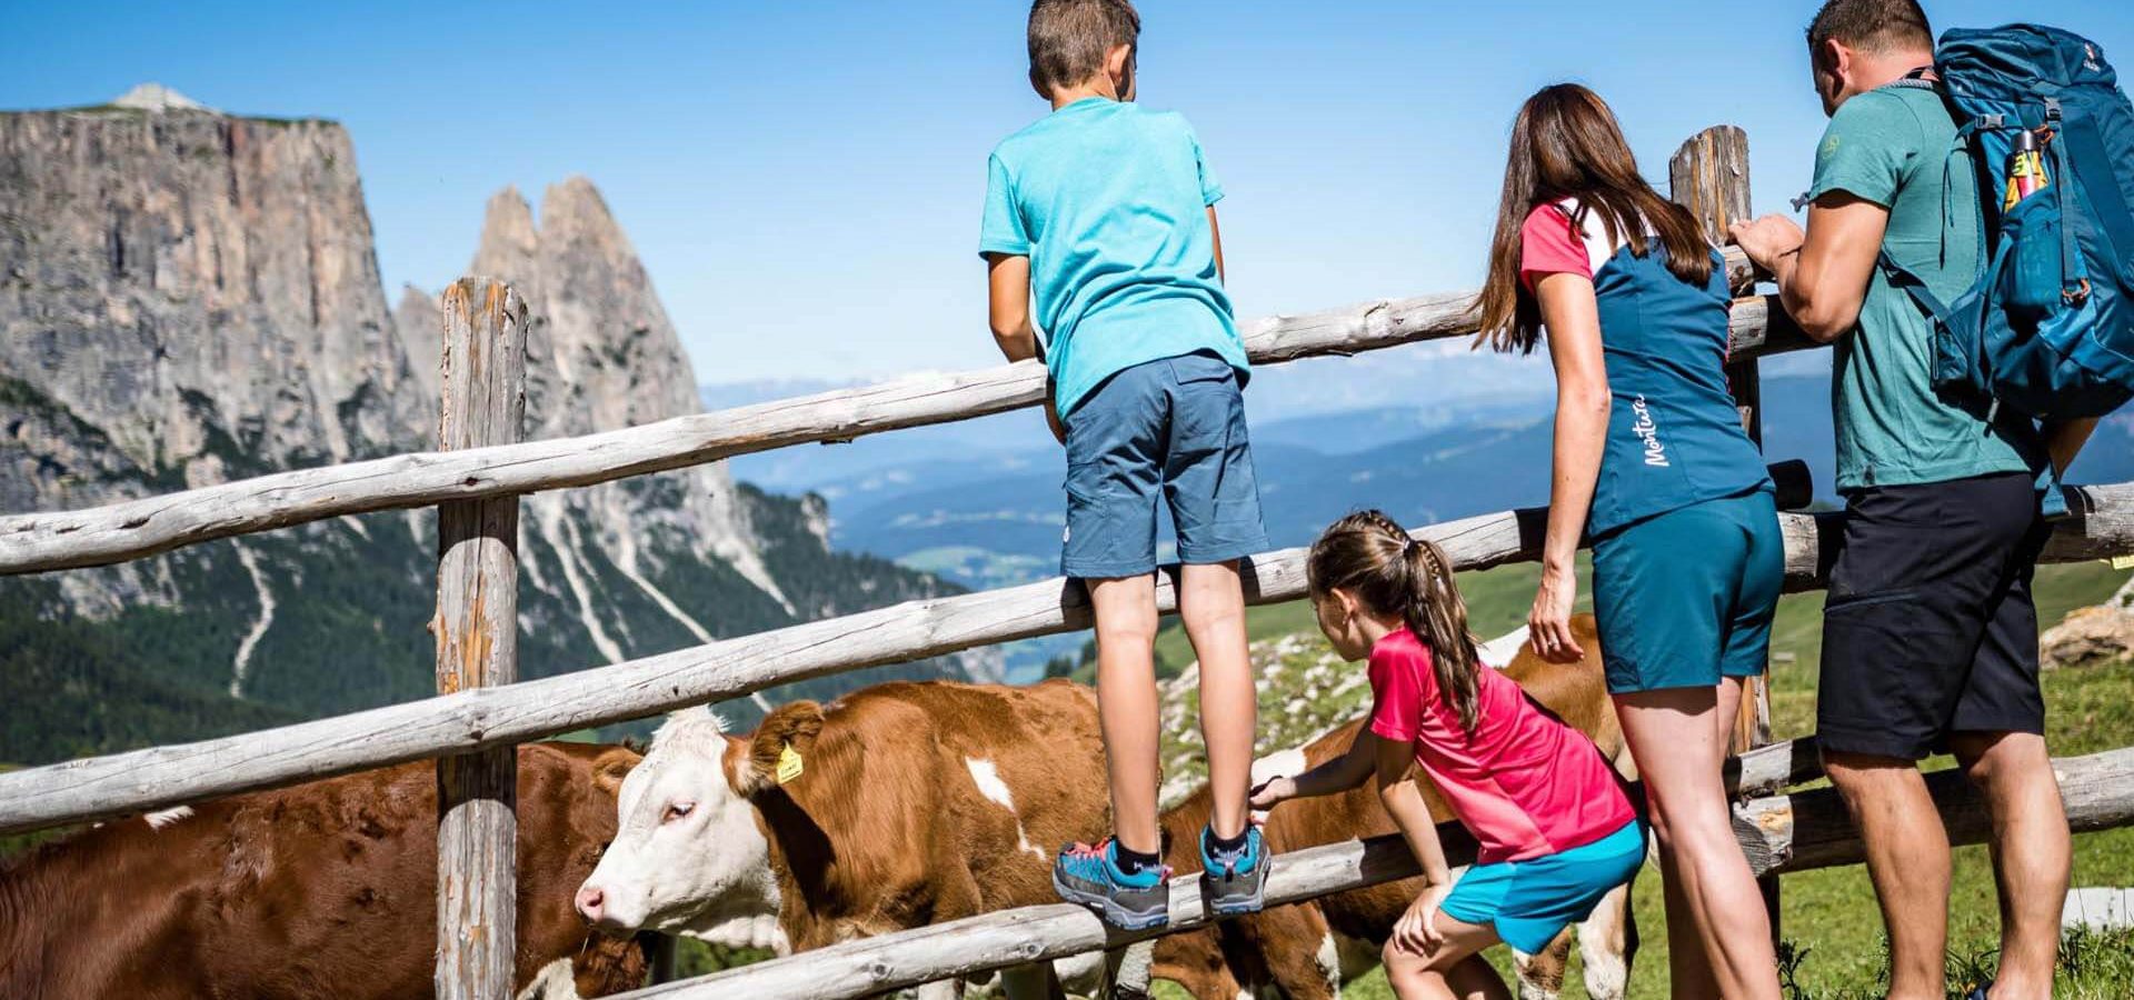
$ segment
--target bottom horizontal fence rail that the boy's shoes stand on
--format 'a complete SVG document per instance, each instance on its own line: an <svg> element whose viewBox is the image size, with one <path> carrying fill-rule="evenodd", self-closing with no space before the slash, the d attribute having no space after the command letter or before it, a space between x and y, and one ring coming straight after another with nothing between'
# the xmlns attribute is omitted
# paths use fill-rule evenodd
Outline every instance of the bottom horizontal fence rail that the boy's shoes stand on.
<svg viewBox="0 0 2134 1000"><path fill-rule="evenodd" d="M1773 746L1775 751L1778 746ZM2134 823L2134 748L2053 759L2068 825L2076 832ZM1991 834L1978 791L1959 772L1927 776L1933 804L1955 844ZM1438 827L1447 861L1475 859L1475 840L1458 823ZM1754 874L1805 872L1859 864L1863 846L1835 789L1771 795L1735 806L1735 836ZM1317 900L1417 874L1398 834L1278 855L1268 872L1268 906ZM1133 940L1187 932L1208 923L1197 876L1172 887L1172 921L1159 932L1108 930L1095 913L1069 904L1024 906L877 938L807 951L681 983L621 994L627 1000L841 1000L875 996L973 972L1020 966Z"/></svg>

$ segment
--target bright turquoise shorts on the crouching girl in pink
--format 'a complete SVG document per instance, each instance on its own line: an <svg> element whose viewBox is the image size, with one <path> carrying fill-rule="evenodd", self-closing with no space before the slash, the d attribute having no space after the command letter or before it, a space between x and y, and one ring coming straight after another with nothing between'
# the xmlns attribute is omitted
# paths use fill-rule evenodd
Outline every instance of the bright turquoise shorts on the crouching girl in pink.
<svg viewBox="0 0 2134 1000"><path fill-rule="evenodd" d="M1564 928L1592 917L1600 898L1628 885L1643 864L1645 825L1633 819L1586 846L1468 868L1438 910L1477 928L1494 925L1507 945L1539 955Z"/></svg>

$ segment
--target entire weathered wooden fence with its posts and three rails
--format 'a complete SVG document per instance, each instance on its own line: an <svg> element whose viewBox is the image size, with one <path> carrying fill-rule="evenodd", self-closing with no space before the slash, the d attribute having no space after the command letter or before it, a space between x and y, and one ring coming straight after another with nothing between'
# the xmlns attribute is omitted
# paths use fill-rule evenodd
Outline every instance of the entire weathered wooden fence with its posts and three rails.
<svg viewBox="0 0 2134 1000"><path fill-rule="evenodd" d="M1694 136L1673 162L1673 181L1711 232L1748 211L1746 139L1722 126ZM1735 288L1750 286L1739 254ZM1357 354L1475 333L1472 292L1376 301L1244 324L1257 365ZM862 614L708 642L555 678L514 680L514 531L525 493L587 486L627 475L809 441L950 420L1041 401L1035 362L824 392L600 435L519 441L523 414L525 305L497 281L463 279L446 294L444 429L440 452L301 469L105 507L0 518L0 574L30 574L143 559L179 546L346 514L440 507L437 680L440 695L181 746L87 757L0 774L0 834L143 812L250 789L412 759L440 759L440 964L437 996L506 998L512 932L510 746L591 725L642 719L766 687L901 663L997 642L1088 627L1080 584L1046 580L960 597L909 601ZM1810 345L1763 296L1733 307L1731 380L1743 420L1758 433L1754 358ZM2047 561L2134 552L2134 484L2072 486L2074 516L2055 527ZM1545 510L1513 510L1417 531L1445 546L1460 569L1534 561ZM1840 514L1784 514L1786 586L1822 586ZM1246 561L1251 603L1304 595L1304 552ZM1176 567L1159 574L1157 599L1174 610ZM1761 701L1761 699L1758 699ZM1842 810L1827 793L1775 795L1812 772L1801 744L1750 746L1767 714L1748 716L1737 761L1741 838L1761 872L1857 861ZM1765 721L1758 725L1758 721ZM497 761L504 761L501 765ZM2134 751L2061 763L2070 814L2085 825L2134 821ZM1940 780L1957 836L1976 836L1976 804ZM1458 842L1458 836L1449 838ZM1291 855L1272 900L1308 900L1413 872L1394 842L1351 842ZM1771 883L1775 885L1775 883ZM1773 889L1775 891L1775 889ZM1178 893L1172 930L1201 921L1195 893ZM504 915L506 919L497 919ZM1069 906L1035 906L909 934L811 951L644 996L866 996L982 968L1116 947L1101 923Z"/></svg>

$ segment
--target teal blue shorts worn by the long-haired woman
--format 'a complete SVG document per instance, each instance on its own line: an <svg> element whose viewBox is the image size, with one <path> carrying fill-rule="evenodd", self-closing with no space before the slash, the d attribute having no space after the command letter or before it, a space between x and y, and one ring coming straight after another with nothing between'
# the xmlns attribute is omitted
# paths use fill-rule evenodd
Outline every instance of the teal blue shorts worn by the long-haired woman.
<svg viewBox="0 0 2134 1000"><path fill-rule="evenodd" d="M1594 542L1607 689L1624 695L1752 678L1771 659L1786 537L1769 490L1639 520Z"/></svg>

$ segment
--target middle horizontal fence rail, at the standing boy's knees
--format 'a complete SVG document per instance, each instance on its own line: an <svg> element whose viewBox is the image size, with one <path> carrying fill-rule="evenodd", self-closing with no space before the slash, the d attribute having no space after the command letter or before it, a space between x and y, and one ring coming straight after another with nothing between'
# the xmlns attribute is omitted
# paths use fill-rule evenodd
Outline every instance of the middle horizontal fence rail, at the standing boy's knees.
<svg viewBox="0 0 2134 1000"><path fill-rule="evenodd" d="M2044 561L2134 552L2134 482L2070 486L2074 516L2055 525ZM1417 531L1458 569L1541 557L1545 507L1483 514ZM1786 586L1822 584L1844 514L1782 514ZM1157 601L1176 610L1176 567ZM1304 550L1251 557L1248 603L1304 595ZM576 674L461 691L399 706L194 744L156 746L0 774L0 834L107 819L235 791L290 785L444 753L540 740L674 708L723 701L824 674L939 657L1088 627L1088 595L1069 580L907 601L843 618L691 646Z"/></svg>

